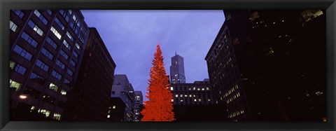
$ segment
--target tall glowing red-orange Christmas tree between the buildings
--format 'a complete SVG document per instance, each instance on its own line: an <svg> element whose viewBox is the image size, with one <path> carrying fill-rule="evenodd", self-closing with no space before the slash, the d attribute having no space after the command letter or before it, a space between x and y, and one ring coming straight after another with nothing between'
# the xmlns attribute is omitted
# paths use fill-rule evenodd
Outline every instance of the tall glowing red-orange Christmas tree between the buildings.
<svg viewBox="0 0 336 131"><path fill-rule="evenodd" d="M174 119L172 92L169 90L169 77L167 76L165 64L163 64L160 45L156 47L154 60L152 62L151 74L148 80L147 95L141 114L144 118L141 121L172 121Z"/></svg>

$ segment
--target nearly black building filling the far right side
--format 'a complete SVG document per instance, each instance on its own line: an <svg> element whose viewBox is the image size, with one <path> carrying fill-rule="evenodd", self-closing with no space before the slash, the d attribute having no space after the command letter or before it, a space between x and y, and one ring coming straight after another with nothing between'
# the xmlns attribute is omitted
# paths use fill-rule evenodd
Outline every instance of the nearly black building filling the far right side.
<svg viewBox="0 0 336 131"><path fill-rule="evenodd" d="M323 120L325 11L224 13L253 120Z"/></svg>

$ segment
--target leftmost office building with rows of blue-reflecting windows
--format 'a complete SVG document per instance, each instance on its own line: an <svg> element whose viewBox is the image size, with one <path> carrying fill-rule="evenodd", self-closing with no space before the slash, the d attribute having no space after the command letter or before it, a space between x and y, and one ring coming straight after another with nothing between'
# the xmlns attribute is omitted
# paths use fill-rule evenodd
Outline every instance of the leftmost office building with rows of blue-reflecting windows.
<svg viewBox="0 0 336 131"><path fill-rule="evenodd" d="M80 11L10 11L11 120L62 120L88 32Z"/></svg>

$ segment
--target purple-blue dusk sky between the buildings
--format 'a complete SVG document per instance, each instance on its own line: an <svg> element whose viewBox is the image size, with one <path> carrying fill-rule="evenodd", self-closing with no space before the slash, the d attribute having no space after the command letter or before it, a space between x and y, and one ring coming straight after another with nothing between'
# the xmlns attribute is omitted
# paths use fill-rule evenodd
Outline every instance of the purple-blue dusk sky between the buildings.
<svg viewBox="0 0 336 131"><path fill-rule="evenodd" d="M157 43L168 75L176 51L184 58L187 83L209 78L204 57L225 20L223 11L214 10L81 12L116 62L115 74L126 74L134 90L144 96Z"/></svg>

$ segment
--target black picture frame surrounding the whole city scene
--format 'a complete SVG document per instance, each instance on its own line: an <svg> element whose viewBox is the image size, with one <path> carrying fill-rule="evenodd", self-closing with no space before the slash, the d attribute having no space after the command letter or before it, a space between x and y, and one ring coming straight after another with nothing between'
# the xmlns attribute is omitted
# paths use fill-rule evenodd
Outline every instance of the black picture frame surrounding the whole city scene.
<svg viewBox="0 0 336 131"><path fill-rule="evenodd" d="M0 129L1 130L335 130L335 0L1 0L0 20ZM97 123L34 122L9 120L9 11L13 9L265 9L289 10L324 8L327 18L327 122L326 123Z"/></svg>

